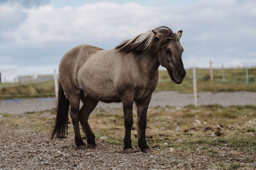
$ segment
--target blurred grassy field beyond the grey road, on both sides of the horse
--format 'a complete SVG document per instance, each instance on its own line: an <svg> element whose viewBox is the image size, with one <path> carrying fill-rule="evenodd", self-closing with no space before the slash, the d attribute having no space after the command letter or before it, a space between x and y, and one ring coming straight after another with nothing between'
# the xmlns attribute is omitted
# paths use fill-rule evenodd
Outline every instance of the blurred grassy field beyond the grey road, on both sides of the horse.
<svg viewBox="0 0 256 170"><path fill-rule="evenodd" d="M170 80L167 71L159 71L159 81L156 92L177 91L180 93L193 93L192 69L187 69L184 82L176 85ZM222 80L222 70L213 69L214 79L210 80L209 69L196 68L196 81L198 92L256 92L256 68L225 69L225 81ZM42 82L28 82L26 85L19 83L0 83L0 99L54 97L54 80Z"/></svg>

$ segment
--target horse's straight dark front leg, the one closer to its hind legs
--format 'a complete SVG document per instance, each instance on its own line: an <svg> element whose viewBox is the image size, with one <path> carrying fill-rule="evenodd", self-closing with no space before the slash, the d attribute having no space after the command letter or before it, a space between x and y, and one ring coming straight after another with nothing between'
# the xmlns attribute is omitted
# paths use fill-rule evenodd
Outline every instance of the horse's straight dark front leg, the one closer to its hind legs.
<svg viewBox="0 0 256 170"><path fill-rule="evenodd" d="M132 105L133 99L131 97L124 97L122 99L124 109L124 125L125 125L125 136L124 136L124 153L133 153L131 144L131 129L133 124L132 118Z"/></svg>

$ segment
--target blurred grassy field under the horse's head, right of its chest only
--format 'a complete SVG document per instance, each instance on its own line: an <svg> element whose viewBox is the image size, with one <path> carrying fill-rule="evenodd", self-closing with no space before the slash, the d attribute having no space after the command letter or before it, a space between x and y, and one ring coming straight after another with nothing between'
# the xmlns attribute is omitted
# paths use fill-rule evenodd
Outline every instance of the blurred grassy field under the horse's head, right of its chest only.
<svg viewBox="0 0 256 170"><path fill-rule="evenodd" d="M177 91L181 93L193 93L192 69L187 69L185 80L176 85L170 80L167 71L159 71L159 82L156 91ZM198 92L256 92L256 68L248 71L249 83L246 83L246 71L241 69L225 69L225 81L222 80L222 70L213 69L214 79L210 80L209 69L196 68L196 85Z"/></svg>

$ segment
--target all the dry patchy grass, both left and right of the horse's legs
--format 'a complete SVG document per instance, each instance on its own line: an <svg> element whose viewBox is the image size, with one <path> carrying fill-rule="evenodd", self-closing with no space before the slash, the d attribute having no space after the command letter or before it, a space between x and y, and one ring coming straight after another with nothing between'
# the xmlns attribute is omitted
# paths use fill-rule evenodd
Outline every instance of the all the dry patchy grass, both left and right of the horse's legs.
<svg viewBox="0 0 256 170"><path fill-rule="evenodd" d="M0 114L0 125L50 132L56 110L24 115ZM134 122L136 122L134 110ZM71 121L70 121L71 122ZM97 109L89 119L99 143L123 145L124 117L120 109ZM179 128L178 128L179 127ZM148 109L147 141L152 150L175 150L175 154L201 154L214 160L218 169L256 167L256 106L157 107ZM132 146L138 149L136 124ZM214 134L215 136L211 136ZM69 137L74 137L69 124ZM103 138L102 138L103 137ZM178 162L171 162L176 165ZM207 164L207 161L205 162ZM193 164L189 165L193 167Z"/></svg>

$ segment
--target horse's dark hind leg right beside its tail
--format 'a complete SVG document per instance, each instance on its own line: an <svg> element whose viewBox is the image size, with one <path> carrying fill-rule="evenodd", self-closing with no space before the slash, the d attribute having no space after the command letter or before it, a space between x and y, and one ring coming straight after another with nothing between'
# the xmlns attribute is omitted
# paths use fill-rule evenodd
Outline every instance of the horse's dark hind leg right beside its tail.
<svg viewBox="0 0 256 170"><path fill-rule="evenodd" d="M85 150L85 145L81 138L79 129L79 103L80 97L70 97L70 117L72 119L72 124L74 127L76 146L78 149Z"/></svg>

